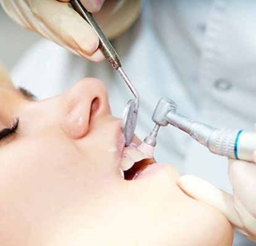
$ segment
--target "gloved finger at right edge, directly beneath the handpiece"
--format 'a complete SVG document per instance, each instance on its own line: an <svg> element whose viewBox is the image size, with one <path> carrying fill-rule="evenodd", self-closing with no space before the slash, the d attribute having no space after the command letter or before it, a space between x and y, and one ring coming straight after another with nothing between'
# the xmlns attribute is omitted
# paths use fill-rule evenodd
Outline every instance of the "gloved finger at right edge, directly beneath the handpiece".
<svg viewBox="0 0 256 246"><path fill-rule="evenodd" d="M249 213L256 218L256 165L251 162L229 159L228 176L234 193Z"/></svg>

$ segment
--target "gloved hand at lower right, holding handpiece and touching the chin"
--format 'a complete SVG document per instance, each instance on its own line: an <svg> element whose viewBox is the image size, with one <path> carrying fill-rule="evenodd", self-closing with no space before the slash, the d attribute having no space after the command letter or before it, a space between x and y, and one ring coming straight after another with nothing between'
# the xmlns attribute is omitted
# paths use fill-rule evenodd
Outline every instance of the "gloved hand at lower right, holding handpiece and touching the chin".
<svg viewBox="0 0 256 246"><path fill-rule="evenodd" d="M256 153L254 157L256 162ZM178 185L192 198L220 210L236 231L256 242L256 165L230 159L228 175L233 196L192 175L180 177Z"/></svg>

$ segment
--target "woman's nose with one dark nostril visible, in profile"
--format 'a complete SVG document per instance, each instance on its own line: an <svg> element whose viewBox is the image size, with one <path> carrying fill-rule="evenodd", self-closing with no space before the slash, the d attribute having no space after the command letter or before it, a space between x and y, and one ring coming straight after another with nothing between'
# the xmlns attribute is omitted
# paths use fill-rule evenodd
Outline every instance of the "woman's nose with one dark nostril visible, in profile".
<svg viewBox="0 0 256 246"><path fill-rule="evenodd" d="M94 78L78 81L60 96L60 103L60 125L73 139L84 137L98 117L110 114L107 89Z"/></svg>

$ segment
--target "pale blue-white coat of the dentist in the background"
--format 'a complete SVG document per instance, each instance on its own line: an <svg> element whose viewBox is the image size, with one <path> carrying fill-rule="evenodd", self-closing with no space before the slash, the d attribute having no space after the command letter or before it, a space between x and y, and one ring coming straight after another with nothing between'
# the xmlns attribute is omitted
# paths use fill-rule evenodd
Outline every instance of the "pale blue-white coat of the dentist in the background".
<svg viewBox="0 0 256 246"><path fill-rule="evenodd" d="M256 1L144 1L138 21L112 41L141 95L136 134L149 135L157 101L170 98L178 112L215 127L254 130L256 122ZM112 113L122 117L133 94L106 61L92 63L41 41L17 64L12 79L38 98L65 92L83 77L101 79ZM186 133L161 127L155 158L232 192L226 157ZM256 245L236 236L234 245Z"/></svg>

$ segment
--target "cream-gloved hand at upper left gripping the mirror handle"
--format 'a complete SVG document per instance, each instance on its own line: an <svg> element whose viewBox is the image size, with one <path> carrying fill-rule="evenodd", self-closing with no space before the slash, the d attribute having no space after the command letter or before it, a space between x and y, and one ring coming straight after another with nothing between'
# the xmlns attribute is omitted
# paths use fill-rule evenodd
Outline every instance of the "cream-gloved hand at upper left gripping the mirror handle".
<svg viewBox="0 0 256 246"><path fill-rule="evenodd" d="M104 0L80 0L92 13L101 9ZM69 0L0 0L6 13L20 26L33 30L76 55L94 62L104 59L98 48L99 38L69 6Z"/></svg>

